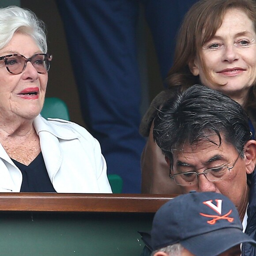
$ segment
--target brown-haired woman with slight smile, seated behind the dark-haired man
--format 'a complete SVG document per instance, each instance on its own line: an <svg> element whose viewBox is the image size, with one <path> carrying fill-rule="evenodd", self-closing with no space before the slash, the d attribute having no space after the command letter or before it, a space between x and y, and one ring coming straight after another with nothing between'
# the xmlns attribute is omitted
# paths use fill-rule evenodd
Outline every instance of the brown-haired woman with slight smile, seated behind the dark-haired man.
<svg viewBox="0 0 256 256"><path fill-rule="evenodd" d="M140 132L148 136L141 158L143 193L180 193L169 179L169 167L154 143L152 129L157 109L193 84L222 91L239 102L256 127L256 3L253 0L200 0L184 17L169 89L154 98Z"/></svg>

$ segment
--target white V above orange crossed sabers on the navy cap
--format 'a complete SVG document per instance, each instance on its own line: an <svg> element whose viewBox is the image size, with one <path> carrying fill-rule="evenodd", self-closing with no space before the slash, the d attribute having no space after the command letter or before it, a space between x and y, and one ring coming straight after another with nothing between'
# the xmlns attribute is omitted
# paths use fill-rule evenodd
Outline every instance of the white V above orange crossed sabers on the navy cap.
<svg viewBox="0 0 256 256"><path fill-rule="evenodd" d="M212 200L203 202L208 207L210 207L212 210L214 210L218 213L218 215L208 215L208 214L204 214L204 213L200 212L200 215L202 215L204 217L212 218L211 220L208 220L207 223L214 225L216 223L216 221L218 221L220 219L226 219L228 222L233 222L234 218L229 217L229 215L232 213L232 210L230 210L228 213L226 213L224 215L221 215L222 214L222 200L215 199L215 202L217 203L217 205L212 203Z"/></svg>

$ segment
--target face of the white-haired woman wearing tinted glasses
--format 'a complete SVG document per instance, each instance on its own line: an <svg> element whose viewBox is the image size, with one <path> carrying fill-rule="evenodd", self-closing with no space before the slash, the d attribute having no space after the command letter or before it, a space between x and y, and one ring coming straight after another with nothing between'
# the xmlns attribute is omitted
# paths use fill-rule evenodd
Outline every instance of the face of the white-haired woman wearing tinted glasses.
<svg viewBox="0 0 256 256"><path fill-rule="evenodd" d="M27 34L16 33L11 41L0 50L0 56L21 54L30 58L41 53L34 39ZM0 61L0 117L13 119L23 117L34 119L44 104L48 74L39 74L31 62L27 62L25 70L18 74L10 74Z"/></svg>

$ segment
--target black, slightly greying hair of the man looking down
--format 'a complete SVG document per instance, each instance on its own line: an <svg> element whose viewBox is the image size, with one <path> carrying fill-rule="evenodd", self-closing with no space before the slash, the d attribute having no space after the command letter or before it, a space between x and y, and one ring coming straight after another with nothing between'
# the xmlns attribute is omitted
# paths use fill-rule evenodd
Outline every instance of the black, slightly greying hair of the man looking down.
<svg viewBox="0 0 256 256"><path fill-rule="evenodd" d="M172 163L173 150L217 135L240 153L251 139L248 116L241 105L217 90L194 85L166 102L154 119L153 137ZM243 156L243 154L241 154Z"/></svg>

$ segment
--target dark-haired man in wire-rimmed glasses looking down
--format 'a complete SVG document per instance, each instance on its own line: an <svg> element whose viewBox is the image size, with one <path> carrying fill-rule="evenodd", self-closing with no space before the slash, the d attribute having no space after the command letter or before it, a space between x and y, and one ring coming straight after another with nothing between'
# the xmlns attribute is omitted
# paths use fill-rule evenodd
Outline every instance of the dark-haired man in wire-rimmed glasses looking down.
<svg viewBox="0 0 256 256"><path fill-rule="evenodd" d="M169 164L169 177L182 192L229 197L245 233L255 239L256 141L241 105L207 87L190 87L159 110L153 136ZM242 253L256 255L248 243Z"/></svg>

